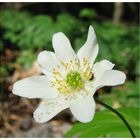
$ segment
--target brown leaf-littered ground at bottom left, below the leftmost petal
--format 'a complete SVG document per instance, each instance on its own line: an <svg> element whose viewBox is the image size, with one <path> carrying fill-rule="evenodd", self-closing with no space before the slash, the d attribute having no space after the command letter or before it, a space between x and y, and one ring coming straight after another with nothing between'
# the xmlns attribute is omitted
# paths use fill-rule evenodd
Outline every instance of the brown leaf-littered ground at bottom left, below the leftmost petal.
<svg viewBox="0 0 140 140"><path fill-rule="evenodd" d="M10 104L13 100L14 103ZM0 137L63 137L71 128L72 118L68 110L45 124L39 124L32 118L38 100L12 95L11 101L0 103Z"/></svg>

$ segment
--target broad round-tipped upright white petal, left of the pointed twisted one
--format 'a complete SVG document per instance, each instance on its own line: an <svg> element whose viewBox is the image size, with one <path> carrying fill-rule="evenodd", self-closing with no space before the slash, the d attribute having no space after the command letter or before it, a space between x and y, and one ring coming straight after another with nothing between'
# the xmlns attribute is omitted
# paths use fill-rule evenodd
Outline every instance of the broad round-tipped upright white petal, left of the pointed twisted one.
<svg viewBox="0 0 140 140"><path fill-rule="evenodd" d="M75 59L78 61L77 55L64 33L59 32L54 34L52 43L57 59L63 62L69 62Z"/></svg>

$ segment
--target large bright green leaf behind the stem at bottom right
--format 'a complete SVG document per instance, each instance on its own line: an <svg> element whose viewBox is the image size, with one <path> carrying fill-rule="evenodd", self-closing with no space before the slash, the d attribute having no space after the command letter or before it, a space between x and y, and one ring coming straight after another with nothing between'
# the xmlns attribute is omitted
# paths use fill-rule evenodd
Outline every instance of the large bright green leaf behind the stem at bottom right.
<svg viewBox="0 0 140 140"><path fill-rule="evenodd" d="M120 108L118 111L125 117L135 135L139 137L138 108ZM90 123L76 123L66 137L131 137L122 120L111 111L99 111Z"/></svg>

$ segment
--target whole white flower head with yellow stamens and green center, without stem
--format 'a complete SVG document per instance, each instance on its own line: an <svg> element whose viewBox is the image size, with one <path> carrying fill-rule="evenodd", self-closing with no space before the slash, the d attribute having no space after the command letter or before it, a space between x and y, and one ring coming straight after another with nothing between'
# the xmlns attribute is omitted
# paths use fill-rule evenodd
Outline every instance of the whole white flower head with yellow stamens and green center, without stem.
<svg viewBox="0 0 140 140"><path fill-rule="evenodd" d="M45 75L16 82L13 93L42 99L34 112L37 122L47 122L66 108L70 108L80 122L90 122L95 114L95 91L103 86L123 84L126 76L112 70L114 64L108 60L93 65L99 46L92 26L77 55L62 32L53 35L52 44L55 53L42 51L38 55Z"/></svg>

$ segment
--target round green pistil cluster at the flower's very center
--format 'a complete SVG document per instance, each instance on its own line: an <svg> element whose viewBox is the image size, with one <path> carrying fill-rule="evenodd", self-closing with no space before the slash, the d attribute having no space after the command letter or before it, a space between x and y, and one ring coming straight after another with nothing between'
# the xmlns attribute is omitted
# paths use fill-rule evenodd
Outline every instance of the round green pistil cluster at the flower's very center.
<svg viewBox="0 0 140 140"><path fill-rule="evenodd" d="M81 74L77 71L70 71L66 75L66 84L71 88L81 87L82 85L82 77Z"/></svg>

